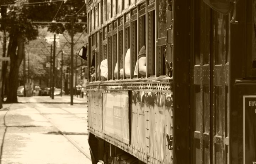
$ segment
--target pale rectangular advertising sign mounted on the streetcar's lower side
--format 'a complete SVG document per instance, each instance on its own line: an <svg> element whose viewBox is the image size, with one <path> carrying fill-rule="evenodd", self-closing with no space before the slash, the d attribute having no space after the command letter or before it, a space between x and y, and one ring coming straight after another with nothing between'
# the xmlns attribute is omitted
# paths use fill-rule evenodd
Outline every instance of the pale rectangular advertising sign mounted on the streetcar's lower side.
<svg viewBox="0 0 256 164"><path fill-rule="evenodd" d="M129 144L128 91L111 91L103 97L103 133Z"/></svg>

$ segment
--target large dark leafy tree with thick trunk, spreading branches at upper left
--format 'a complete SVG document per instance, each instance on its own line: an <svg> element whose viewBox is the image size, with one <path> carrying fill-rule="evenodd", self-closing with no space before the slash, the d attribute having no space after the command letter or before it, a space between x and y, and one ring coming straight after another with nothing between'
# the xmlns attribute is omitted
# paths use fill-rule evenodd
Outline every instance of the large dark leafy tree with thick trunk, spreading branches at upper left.
<svg viewBox="0 0 256 164"><path fill-rule="evenodd" d="M7 56L10 56L9 90L6 102L17 102L18 70L24 57L25 42L36 39L38 26L32 21L66 21L66 14L76 13L84 5L84 0L54 2L45 0L44 4L30 5L29 3L42 2L42 0L0 0L1 29L9 33ZM59 12L58 12L59 11ZM57 13L57 14L56 14ZM84 11L82 14L86 15ZM86 17L76 19L86 22ZM81 32L85 27L75 26L75 33ZM49 30L55 33L70 31L70 24L51 24ZM4 53L3 53L4 54ZM7 66L6 66L7 68Z"/></svg>

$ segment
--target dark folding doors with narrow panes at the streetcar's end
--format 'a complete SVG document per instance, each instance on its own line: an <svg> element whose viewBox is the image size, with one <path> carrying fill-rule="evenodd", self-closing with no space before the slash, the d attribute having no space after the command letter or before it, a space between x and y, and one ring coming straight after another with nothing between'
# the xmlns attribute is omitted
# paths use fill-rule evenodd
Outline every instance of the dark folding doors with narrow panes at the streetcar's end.
<svg viewBox="0 0 256 164"><path fill-rule="evenodd" d="M226 164L228 153L228 18L203 0L193 4L191 55L193 163Z"/></svg>

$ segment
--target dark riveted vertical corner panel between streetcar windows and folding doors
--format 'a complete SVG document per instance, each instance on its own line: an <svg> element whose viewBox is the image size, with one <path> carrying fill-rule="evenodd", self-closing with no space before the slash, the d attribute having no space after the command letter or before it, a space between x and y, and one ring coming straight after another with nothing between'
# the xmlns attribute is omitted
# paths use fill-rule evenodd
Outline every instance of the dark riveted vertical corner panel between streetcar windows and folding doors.
<svg viewBox="0 0 256 164"><path fill-rule="evenodd" d="M174 163L190 164L190 0L174 1ZM193 67L192 67L193 68Z"/></svg>

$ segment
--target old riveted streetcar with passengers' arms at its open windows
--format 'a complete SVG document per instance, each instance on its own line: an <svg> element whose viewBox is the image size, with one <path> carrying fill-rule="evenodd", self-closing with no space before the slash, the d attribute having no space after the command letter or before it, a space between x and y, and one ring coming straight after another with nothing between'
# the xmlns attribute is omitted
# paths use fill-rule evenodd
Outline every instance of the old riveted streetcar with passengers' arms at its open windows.
<svg viewBox="0 0 256 164"><path fill-rule="evenodd" d="M85 3L93 164L256 164L255 0Z"/></svg>

